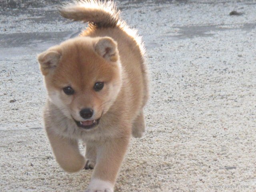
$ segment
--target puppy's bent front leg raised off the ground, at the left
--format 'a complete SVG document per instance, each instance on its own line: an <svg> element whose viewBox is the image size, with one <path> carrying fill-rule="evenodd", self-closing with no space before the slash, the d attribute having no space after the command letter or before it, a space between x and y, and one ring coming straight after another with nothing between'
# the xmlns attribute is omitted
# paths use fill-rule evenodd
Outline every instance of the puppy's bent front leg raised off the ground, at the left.
<svg viewBox="0 0 256 192"><path fill-rule="evenodd" d="M80 154L78 141L64 138L46 127L56 161L67 172L77 172L84 168L84 156Z"/></svg>

